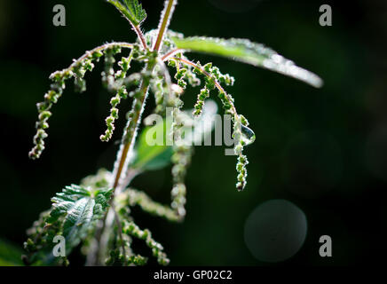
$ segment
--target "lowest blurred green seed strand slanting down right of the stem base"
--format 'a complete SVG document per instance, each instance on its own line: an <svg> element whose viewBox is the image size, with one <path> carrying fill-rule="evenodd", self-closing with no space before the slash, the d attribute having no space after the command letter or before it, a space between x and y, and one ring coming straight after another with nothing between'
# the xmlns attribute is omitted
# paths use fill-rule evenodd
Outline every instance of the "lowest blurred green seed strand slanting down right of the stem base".
<svg viewBox="0 0 387 284"><path fill-rule="evenodd" d="M152 249L152 254L157 258L157 262L161 265L167 265L170 263L170 259L168 259L167 255L164 253L162 245L157 241L154 241L152 238L152 234L148 229L144 231L141 230L138 225L133 222L124 222L124 226L122 228L123 233L127 233L130 236L138 238L146 242L146 246Z"/></svg>

